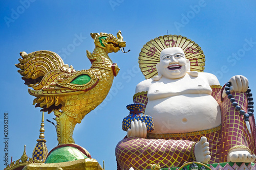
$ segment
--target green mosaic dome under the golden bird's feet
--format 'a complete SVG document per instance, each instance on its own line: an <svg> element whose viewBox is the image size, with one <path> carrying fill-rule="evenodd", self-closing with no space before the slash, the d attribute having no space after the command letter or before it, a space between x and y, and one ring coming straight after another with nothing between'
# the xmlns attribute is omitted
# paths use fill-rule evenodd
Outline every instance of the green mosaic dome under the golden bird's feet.
<svg viewBox="0 0 256 170"><path fill-rule="evenodd" d="M88 158L81 151L73 147L61 147L54 150L46 159L45 163L68 162Z"/></svg>

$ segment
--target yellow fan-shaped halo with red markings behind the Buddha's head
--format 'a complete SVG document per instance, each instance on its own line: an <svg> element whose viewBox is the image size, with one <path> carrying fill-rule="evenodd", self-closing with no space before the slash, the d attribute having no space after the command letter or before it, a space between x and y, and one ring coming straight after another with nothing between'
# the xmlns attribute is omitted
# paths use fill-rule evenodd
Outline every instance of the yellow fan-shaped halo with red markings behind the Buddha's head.
<svg viewBox="0 0 256 170"><path fill-rule="evenodd" d="M203 72L204 52L198 44L181 35L164 35L148 41L141 48L139 66L146 79L158 75L156 64L160 62L161 51L175 46L182 48L186 59L190 61L191 71Z"/></svg>

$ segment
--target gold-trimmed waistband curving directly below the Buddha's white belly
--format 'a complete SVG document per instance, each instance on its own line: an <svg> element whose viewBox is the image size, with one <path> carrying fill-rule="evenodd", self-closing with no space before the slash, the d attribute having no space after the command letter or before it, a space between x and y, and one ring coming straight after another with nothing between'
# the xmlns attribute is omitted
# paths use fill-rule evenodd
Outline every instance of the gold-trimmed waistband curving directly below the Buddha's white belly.
<svg viewBox="0 0 256 170"><path fill-rule="evenodd" d="M151 137L153 138L187 137L187 136L196 136L196 135L212 133L218 130L221 130L221 125L216 128L211 128L211 129L202 130L202 131L195 131L195 132L187 132L187 133L166 133L166 134L147 133L147 137L150 137L150 138Z"/></svg>

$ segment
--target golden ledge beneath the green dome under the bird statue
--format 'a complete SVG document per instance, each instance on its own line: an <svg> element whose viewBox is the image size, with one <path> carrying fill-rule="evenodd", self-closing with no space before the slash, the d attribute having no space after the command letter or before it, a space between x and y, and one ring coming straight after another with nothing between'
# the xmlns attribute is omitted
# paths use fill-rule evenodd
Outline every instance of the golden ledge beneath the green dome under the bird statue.
<svg viewBox="0 0 256 170"><path fill-rule="evenodd" d="M65 169L87 169L87 170L103 170L96 159L86 158L69 162L60 163L31 163L23 168L23 170L65 170Z"/></svg>

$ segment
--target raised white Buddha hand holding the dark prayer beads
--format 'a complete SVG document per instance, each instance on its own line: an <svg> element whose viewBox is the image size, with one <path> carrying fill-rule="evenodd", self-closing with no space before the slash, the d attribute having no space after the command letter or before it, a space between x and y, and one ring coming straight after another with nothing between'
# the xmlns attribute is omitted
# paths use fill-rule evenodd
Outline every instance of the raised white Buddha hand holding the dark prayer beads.
<svg viewBox="0 0 256 170"><path fill-rule="evenodd" d="M229 80L231 83L229 90L230 92L246 92L248 89L248 80L246 77L238 75L238 76L233 76ZM224 98L226 96L225 90L222 93L222 97Z"/></svg>

